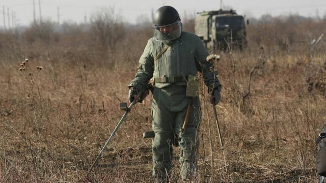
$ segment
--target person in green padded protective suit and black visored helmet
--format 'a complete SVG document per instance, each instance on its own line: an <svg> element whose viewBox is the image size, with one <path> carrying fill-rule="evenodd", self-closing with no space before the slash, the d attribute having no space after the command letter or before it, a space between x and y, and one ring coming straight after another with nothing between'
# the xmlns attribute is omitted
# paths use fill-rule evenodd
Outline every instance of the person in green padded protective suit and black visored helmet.
<svg viewBox="0 0 326 183"><path fill-rule="evenodd" d="M221 98L221 84L214 64L206 61L209 55L202 41L192 33L182 32L182 24L176 9L159 8L154 15L154 37L150 38L139 60L139 70L129 87L129 101L139 102L137 94L154 80L151 111L153 175L165 182L171 171L172 144L180 147L182 179L189 178L197 170L196 152L201 109L198 96L187 96L188 78L201 72L214 105ZM182 130L187 106L191 115ZM179 135L180 134L180 135Z"/></svg>

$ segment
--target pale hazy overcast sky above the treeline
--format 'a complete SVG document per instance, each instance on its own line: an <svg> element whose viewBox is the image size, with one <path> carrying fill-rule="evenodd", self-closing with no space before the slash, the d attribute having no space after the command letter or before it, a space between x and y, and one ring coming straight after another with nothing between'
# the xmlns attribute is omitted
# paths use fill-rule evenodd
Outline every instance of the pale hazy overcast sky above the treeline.
<svg viewBox="0 0 326 183"><path fill-rule="evenodd" d="M175 7L179 14L185 12L194 15L195 12L218 10L220 0L34 0L36 18L40 17L39 1L42 18L58 21L58 7L60 22L72 20L84 22L90 15L103 7L114 7L115 13L125 21L135 23L139 16L150 18L152 9L170 5ZM298 13L303 16L326 15L326 0L223 0L223 5L232 7L239 14L259 18L263 14L273 16ZM4 25L3 7L5 9L5 22L8 26L13 24L12 17L16 17L16 24L28 25L33 21L33 0L0 0L0 26ZM8 21L9 10L9 21Z"/></svg>

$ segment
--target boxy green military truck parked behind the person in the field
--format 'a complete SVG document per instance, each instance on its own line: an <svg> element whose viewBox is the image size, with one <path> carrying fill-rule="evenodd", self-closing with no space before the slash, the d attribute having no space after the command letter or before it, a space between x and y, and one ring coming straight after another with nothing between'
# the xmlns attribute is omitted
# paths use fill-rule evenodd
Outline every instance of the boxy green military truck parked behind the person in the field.
<svg viewBox="0 0 326 183"><path fill-rule="evenodd" d="M195 34L211 51L227 50L228 45L242 49L247 46L244 18L234 10L199 12L195 18ZM249 24L249 21L247 21Z"/></svg>

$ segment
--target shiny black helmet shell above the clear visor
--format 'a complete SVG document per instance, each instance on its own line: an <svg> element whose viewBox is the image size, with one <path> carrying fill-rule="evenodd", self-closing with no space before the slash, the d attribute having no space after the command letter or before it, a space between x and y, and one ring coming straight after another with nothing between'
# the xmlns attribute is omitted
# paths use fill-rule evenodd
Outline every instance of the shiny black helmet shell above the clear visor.
<svg viewBox="0 0 326 183"><path fill-rule="evenodd" d="M171 6L163 6L156 10L154 15L154 26L164 26L180 21L178 11Z"/></svg>

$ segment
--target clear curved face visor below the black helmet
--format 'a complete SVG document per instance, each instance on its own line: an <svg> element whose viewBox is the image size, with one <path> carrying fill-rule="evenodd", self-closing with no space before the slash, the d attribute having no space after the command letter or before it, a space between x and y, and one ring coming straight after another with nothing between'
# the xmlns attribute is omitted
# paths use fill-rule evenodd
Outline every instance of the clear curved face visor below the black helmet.
<svg viewBox="0 0 326 183"><path fill-rule="evenodd" d="M157 41L172 41L180 37L182 24L178 20L170 25L164 26L155 26L154 28L154 37Z"/></svg>

